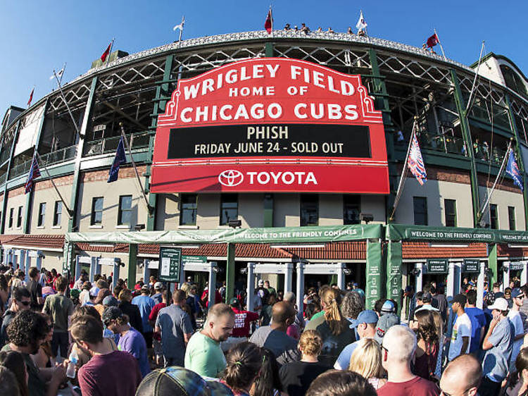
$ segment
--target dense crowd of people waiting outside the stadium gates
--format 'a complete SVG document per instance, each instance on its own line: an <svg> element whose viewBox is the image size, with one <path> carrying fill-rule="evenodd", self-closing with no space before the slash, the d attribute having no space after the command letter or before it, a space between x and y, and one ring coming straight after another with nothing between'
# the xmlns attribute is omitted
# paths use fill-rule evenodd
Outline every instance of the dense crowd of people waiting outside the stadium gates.
<svg viewBox="0 0 528 396"><path fill-rule="evenodd" d="M351 283L293 292L259 280L254 311L225 286L151 277L0 271L0 395L527 395L528 285L427 284L408 321L392 299L365 309ZM508 289L508 288L507 288ZM201 297L199 297L201 296ZM527 338L528 340L528 338Z"/></svg>

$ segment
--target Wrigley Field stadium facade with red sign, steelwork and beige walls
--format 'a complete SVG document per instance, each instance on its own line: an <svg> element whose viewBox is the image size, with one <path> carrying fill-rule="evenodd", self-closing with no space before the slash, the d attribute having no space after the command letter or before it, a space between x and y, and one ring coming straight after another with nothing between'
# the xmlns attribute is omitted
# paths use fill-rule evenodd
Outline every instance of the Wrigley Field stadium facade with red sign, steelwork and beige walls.
<svg viewBox="0 0 528 396"><path fill-rule="evenodd" d="M413 125L427 182L409 173L391 217ZM127 151L108 183L121 127L139 178ZM496 54L465 66L384 39L293 31L115 51L63 95L6 111L3 259L139 279L160 271L160 246L176 246L184 276L227 280L229 292L263 273L298 291L353 279L369 302L431 279L451 295L462 276L525 283L527 192L503 175L489 194L510 142L526 185L527 130L528 80ZM35 151L41 176L25 194Z"/></svg>

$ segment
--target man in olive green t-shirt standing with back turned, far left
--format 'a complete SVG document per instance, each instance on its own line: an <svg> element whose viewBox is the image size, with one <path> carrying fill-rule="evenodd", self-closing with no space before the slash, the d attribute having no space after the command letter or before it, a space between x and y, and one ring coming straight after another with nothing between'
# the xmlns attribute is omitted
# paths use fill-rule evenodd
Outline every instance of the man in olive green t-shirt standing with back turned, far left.
<svg viewBox="0 0 528 396"><path fill-rule="evenodd" d="M73 314L73 302L64 295L68 287L68 279L61 276L56 280L57 294L49 295L44 300L42 312L48 314L54 321L54 335L51 338L51 352L57 356L61 347L61 357L68 358L68 320Z"/></svg>

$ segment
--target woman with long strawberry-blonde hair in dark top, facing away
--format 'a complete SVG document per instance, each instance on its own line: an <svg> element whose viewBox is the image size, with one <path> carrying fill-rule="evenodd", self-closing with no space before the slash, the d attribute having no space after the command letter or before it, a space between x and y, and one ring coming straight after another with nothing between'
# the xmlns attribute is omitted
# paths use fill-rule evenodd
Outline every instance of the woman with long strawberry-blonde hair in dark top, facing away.
<svg viewBox="0 0 528 396"><path fill-rule="evenodd" d="M346 345L356 341L350 322L344 318L339 309L341 293L337 289L328 288L321 295L321 307L325 314L312 318L306 330L317 330L322 338L320 362L334 366L334 362Z"/></svg>

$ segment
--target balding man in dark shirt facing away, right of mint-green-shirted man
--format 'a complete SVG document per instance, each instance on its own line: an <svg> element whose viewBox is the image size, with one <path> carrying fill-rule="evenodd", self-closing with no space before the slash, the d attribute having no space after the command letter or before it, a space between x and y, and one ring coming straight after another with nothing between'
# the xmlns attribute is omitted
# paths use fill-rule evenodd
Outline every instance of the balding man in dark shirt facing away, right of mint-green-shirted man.
<svg viewBox="0 0 528 396"><path fill-rule="evenodd" d="M278 364L298 361L301 355L297 349L297 341L286 334L288 326L295 321L296 311L289 302L277 302L272 307L270 326L261 326L256 330L250 342L270 349L277 357Z"/></svg>

